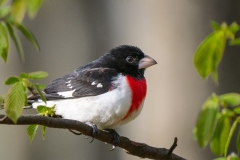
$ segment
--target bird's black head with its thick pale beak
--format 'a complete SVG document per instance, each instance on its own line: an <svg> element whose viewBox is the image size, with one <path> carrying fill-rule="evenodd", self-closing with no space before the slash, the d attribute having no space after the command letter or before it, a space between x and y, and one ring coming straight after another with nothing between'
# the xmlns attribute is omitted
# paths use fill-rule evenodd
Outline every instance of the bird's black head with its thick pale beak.
<svg viewBox="0 0 240 160"><path fill-rule="evenodd" d="M107 67L114 68L125 75L135 78L143 77L145 68L156 64L151 57L145 55L138 47L122 45L111 49L100 59Z"/></svg>

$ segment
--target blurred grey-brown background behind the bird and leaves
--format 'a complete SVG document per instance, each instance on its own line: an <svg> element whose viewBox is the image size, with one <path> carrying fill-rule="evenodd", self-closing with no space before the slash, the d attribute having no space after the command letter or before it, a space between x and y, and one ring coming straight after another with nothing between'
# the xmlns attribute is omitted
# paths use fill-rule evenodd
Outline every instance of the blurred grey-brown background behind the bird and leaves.
<svg viewBox="0 0 240 160"><path fill-rule="evenodd" d="M140 47L158 64L146 72L148 94L142 113L117 132L132 140L169 148L190 160L210 160L209 147L202 150L192 139L201 104L212 92L239 92L239 48L227 47L216 87L202 80L193 67L194 51L211 32L215 20L239 22L238 0L46 0L34 20L24 23L41 46L37 53L22 37L25 62L20 63L11 46L7 64L0 61L0 82L20 72L47 71L53 79L90 62L109 49L129 44ZM0 94L8 87L0 85ZM1 111L3 113L3 111ZM24 114L35 113L33 110ZM30 144L26 126L1 125L0 157L6 160L139 160L110 145L68 130L47 128L45 140L37 133Z"/></svg>

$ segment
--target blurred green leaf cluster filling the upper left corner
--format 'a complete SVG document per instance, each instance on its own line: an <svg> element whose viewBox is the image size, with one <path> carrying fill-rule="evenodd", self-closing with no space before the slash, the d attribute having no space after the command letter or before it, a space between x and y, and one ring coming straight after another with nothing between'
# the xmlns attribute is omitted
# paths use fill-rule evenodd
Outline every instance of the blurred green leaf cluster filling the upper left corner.
<svg viewBox="0 0 240 160"><path fill-rule="evenodd" d="M0 57L4 62L7 62L9 54L9 37L14 42L20 59L24 59L22 44L16 30L20 31L37 51L40 50L35 36L22 24L22 20L26 13L30 18L34 18L42 3L43 0L13 0L11 3L9 0L0 0Z"/></svg>

